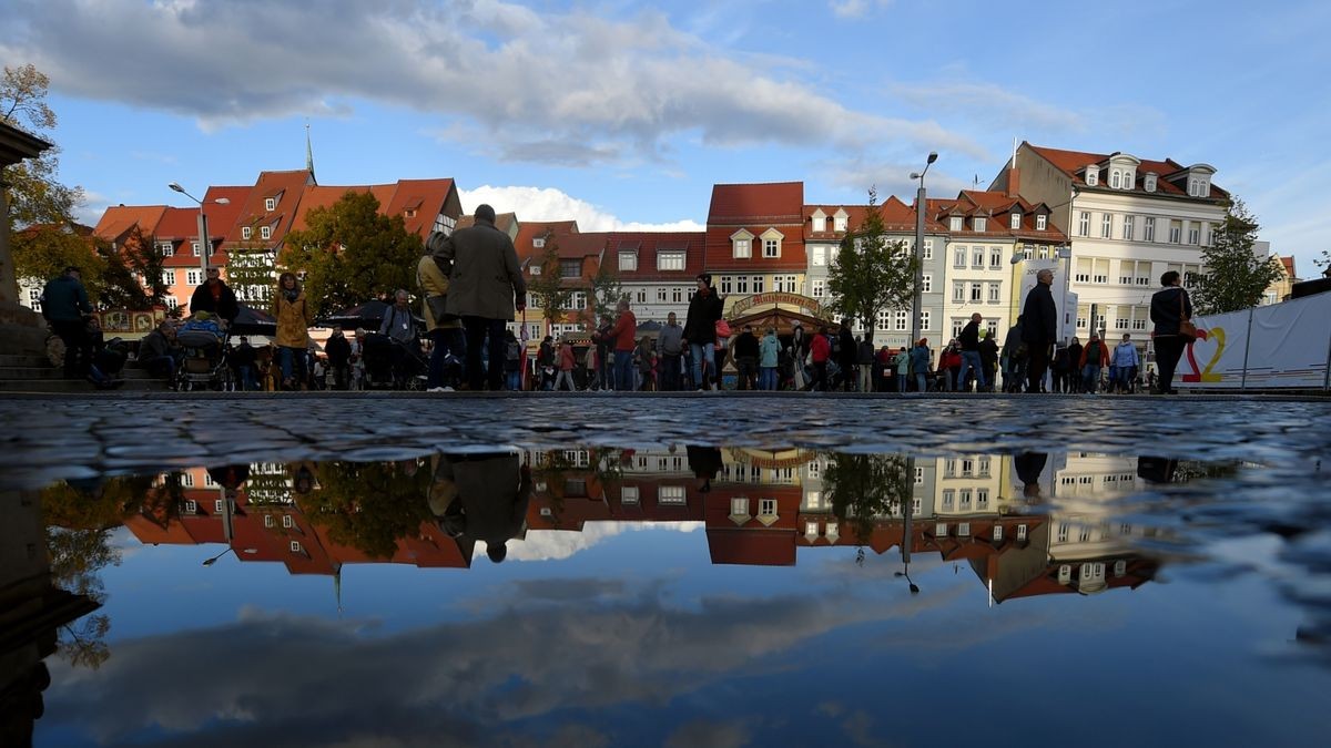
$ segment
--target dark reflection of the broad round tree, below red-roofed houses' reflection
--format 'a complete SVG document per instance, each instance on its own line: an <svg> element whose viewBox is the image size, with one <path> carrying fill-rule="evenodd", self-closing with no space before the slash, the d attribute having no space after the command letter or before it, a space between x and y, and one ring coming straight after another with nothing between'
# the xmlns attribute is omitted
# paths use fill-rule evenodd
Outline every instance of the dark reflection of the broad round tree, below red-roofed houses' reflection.
<svg viewBox="0 0 1331 748"><path fill-rule="evenodd" d="M391 558L398 540L419 534L431 518L431 475L419 461L326 462L315 476L318 488L298 494L297 506L333 542L367 556Z"/></svg>

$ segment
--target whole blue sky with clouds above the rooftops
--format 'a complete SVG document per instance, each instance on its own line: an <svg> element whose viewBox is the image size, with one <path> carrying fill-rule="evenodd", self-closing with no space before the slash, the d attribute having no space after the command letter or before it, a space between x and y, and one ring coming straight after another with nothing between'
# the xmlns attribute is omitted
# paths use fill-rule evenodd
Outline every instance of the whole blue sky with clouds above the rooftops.
<svg viewBox="0 0 1331 748"><path fill-rule="evenodd" d="M165 184L454 177L584 230L705 221L713 182L808 202L988 185L1013 140L1205 161L1302 276L1328 246L1331 4L5 0L61 176L108 204Z"/></svg>

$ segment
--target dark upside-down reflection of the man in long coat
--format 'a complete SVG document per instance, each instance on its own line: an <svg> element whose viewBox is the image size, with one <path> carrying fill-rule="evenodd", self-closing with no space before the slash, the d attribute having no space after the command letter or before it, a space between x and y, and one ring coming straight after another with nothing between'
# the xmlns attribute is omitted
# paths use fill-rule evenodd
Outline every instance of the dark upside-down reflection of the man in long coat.
<svg viewBox="0 0 1331 748"><path fill-rule="evenodd" d="M531 467L518 453L441 454L430 486L430 511L454 538L484 540L494 563L522 532L531 500Z"/></svg>

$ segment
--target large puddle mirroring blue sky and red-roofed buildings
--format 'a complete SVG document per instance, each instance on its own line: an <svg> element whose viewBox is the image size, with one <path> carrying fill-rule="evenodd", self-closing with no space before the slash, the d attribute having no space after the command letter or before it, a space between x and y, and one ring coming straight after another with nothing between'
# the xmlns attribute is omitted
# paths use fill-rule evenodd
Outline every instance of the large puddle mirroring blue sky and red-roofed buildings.
<svg viewBox="0 0 1331 748"><path fill-rule="evenodd" d="M1307 572L1215 488L1267 474L677 447L75 482L48 522L120 512L110 657L48 660L36 740L1291 743L1331 685Z"/></svg>

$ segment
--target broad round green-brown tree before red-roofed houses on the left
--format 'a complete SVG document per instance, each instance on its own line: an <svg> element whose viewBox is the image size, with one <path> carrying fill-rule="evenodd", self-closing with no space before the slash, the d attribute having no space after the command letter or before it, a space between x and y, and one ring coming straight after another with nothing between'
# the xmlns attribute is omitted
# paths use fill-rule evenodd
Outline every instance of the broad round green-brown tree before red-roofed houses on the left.
<svg viewBox="0 0 1331 748"><path fill-rule="evenodd" d="M305 272L306 298L315 314L330 314L395 289L415 289L421 237L402 216L379 213L369 192L347 192L329 208L305 217L305 230L289 232L277 256L280 270Z"/></svg>

